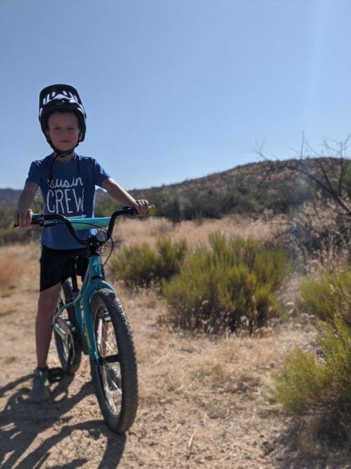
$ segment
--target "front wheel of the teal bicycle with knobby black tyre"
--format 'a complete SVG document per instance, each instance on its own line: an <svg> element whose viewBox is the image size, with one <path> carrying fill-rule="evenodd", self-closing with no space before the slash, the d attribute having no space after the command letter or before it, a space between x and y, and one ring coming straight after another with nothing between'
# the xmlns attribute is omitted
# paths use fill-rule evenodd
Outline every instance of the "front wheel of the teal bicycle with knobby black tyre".
<svg viewBox="0 0 351 469"><path fill-rule="evenodd" d="M95 394L107 425L117 433L131 427L138 407L136 356L126 313L114 292L97 290L91 312L98 361L91 360Z"/></svg>

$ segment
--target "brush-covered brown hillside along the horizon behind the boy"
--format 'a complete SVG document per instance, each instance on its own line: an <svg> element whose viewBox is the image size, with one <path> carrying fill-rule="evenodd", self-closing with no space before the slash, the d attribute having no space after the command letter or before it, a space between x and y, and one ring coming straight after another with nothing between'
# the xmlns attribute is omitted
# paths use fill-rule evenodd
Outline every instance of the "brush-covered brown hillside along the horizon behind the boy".
<svg viewBox="0 0 351 469"><path fill-rule="evenodd" d="M341 172L344 174L343 184L339 184ZM279 214L313 200L317 195L314 176L324 181L326 175L332 183L336 181L338 191L344 191L350 197L351 161L340 158L262 161L178 184L130 192L135 198L147 198L156 205L158 216L173 221L218 218L230 213L261 214L265 210ZM0 211L8 212L11 206L12 212L19 194L20 191L11 188L0 189ZM115 205L107 193L97 191L95 212L98 216L109 214Z"/></svg>

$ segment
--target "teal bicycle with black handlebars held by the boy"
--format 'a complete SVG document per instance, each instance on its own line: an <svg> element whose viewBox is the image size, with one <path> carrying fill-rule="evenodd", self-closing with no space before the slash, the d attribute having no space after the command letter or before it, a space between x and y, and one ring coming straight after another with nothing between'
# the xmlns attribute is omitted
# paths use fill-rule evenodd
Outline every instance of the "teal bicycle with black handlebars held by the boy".
<svg viewBox="0 0 351 469"><path fill-rule="evenodd" d="M81 354L89 356L91 376L102 416L110 429L124 433L131 428L138 407L138 371L133 336L126 312L117 294L105 281L100 248L112 238L117 217L135 215L133 207L124 207L111 217L69 219L59 214L34 214L32 224L65 224L69 234L85 245L88 256L86 274L79 288L77 266L60 288L58 307L53 317L55 345L62 370L77 372ZM93 230L88 238L77 231ZM60 371L51 373L60 380Z"/></svg>

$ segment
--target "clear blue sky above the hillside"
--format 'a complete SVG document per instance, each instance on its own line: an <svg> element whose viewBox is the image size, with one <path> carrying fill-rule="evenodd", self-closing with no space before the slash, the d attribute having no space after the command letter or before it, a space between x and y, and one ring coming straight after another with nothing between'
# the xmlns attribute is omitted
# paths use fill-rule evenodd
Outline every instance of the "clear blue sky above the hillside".
<svg viewBox="0 0 351 469"><path fill-rule="evenodd" d="M349 0L1 0L0 188L50 153L39 91L75 86L77 153L124 188L172 184L351 133Z"/></svg>

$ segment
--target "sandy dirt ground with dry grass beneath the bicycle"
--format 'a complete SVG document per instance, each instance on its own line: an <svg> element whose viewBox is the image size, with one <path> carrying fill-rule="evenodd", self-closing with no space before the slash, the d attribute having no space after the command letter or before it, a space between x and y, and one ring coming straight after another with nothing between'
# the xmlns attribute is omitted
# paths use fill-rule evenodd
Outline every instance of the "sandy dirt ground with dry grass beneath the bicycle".
<svg viewBox="0 0 351 469"><path fill-rule="evenodd" d="M290 349L312 347L312 325L276 326L262 338L194 339L158 326L163 306L152 292L119 292L140 387L126 435L102 420L86 357L73 379L52 387L50 401L28 404L38 250L13 246L1 256L21 265L15 287L0 297L1 468L351 468L346 454L318 445L272 399L272 375ZM49 364L58 366L54 347Z"/></svg>

